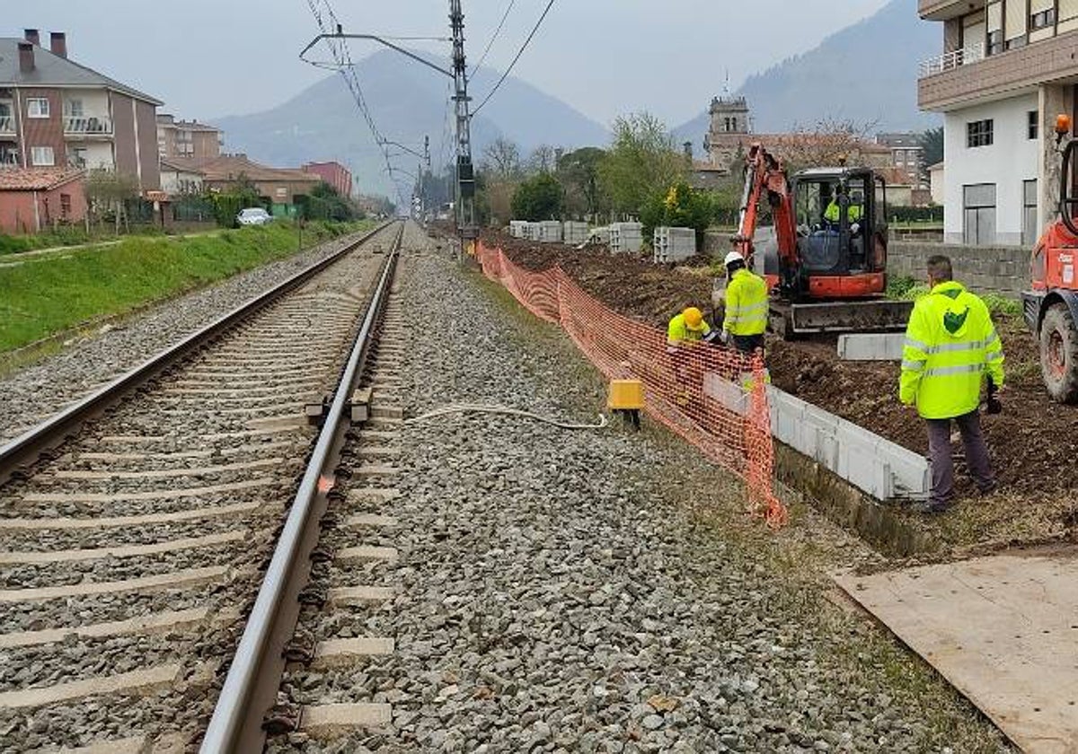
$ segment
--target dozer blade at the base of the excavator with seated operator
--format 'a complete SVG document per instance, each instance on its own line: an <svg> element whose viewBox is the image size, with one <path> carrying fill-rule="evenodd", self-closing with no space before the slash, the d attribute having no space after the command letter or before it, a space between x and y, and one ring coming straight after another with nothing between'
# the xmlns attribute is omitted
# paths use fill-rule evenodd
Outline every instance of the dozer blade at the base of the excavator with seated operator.
<svg viewBox="0 0 1078 754"><path fill-rule="evenodd" d="M906 330L913 302L771 303L771 326L784 337L811 333L886 333Z"/></svg>

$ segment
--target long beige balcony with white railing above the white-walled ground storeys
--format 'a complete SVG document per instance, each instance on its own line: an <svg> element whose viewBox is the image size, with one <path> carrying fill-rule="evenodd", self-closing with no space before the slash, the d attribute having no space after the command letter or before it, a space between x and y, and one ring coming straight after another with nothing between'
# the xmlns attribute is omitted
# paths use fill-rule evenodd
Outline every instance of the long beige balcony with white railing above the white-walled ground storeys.
<svg viewBox="0 0 1078 754"><path fill-rule="evenodd" d="M917 81L917 104L922 110L944 112L1062 83L1078 76L1076 44L1078 31L1067 31L997 55L985 56L983 47L973 46L925 60Z"/></svg>

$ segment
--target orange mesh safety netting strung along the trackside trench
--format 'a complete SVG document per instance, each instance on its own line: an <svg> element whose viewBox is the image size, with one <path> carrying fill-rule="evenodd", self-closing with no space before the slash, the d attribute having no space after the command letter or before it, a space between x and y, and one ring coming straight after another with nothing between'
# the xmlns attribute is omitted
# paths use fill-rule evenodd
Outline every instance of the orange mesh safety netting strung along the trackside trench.
<svg viewBox="0 0 1078 754"><path fill-rule="evenodd" d="M559 324L609 379L644 383L645 410L745 479L754 512L774 527L786 508L772 486L774 444L763 359L705 343L669 348L666 333L611 311L561 267L533 273L479 242L483 273L540 319Z"/></svg>

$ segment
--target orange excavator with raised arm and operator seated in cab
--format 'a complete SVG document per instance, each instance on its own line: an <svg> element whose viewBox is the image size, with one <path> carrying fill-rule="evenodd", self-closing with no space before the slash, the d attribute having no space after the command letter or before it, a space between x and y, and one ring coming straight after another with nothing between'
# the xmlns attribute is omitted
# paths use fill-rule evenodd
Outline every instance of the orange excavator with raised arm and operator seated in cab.
<svg viewBox="0 0 1078 754"><path fill-rule="evenodd" d="M762 203L773 226L758 227ZM806 333L906 327L911 302L887 301L887 186L870 168L813 168L787 176L760 144L746 156L734 249L768 280L771 327Z"/></svg>

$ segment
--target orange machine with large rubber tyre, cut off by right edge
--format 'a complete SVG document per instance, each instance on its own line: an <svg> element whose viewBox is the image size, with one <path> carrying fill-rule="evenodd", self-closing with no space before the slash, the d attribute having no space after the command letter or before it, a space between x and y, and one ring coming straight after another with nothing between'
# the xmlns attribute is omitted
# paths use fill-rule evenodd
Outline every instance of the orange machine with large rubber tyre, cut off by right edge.
<svg viewBox="0 0 1078 754"><path fill-rule="evenodd" d="M1070 117L1055 120L1055 143L1072 132ZM1078 174L1070 139L1063 148L1059 220L1034 247L1031 291L1022 294L1025 322L1040 341L1040 374L1053 400L1078 403Z"/></svg>

